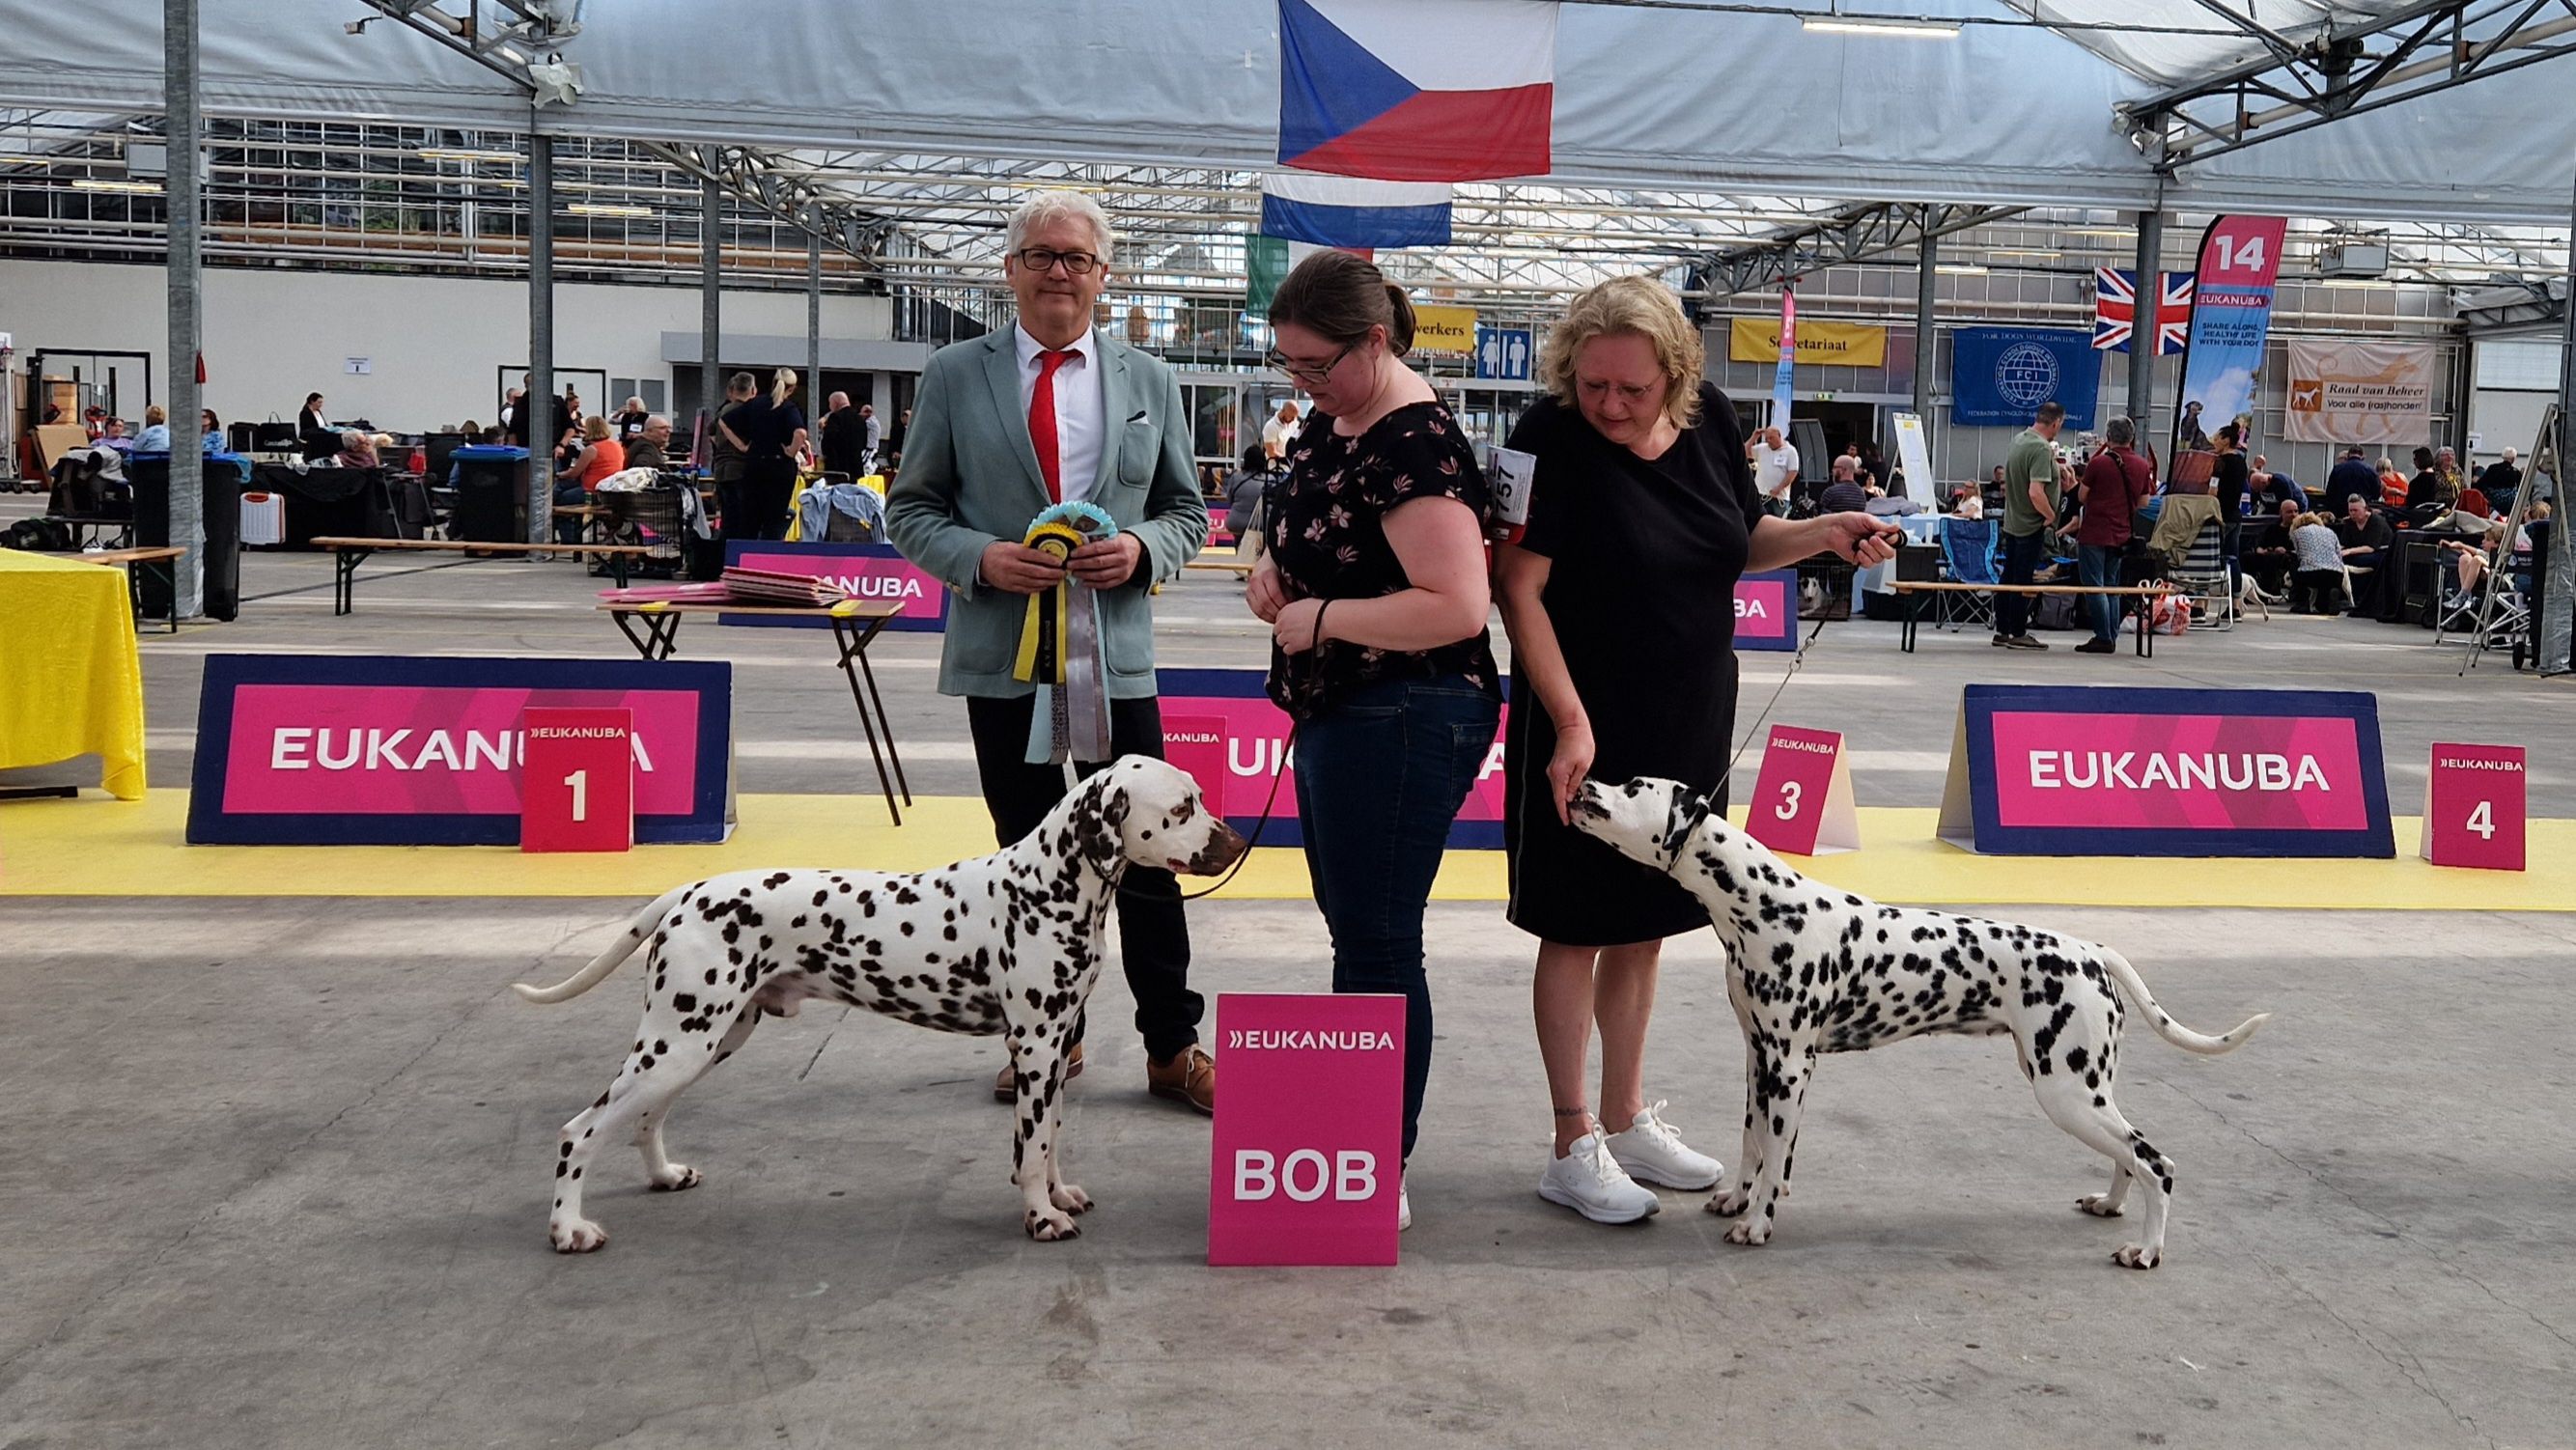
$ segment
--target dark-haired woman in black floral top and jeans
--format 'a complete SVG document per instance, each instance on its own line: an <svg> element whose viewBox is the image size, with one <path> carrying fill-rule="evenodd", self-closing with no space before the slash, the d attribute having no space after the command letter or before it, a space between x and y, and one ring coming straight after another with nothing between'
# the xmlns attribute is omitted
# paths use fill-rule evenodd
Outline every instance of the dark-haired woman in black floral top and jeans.
<svg viewBox="0 0 2576 1450"><path fill-rule="evenodd" d="M1298 721L1296 801L1334 992L1404 994L1404 1151L1432 1066L1422 909L1502 716L1486 644L1486 484L1458 420L1404 366L1414 309L1350 252L1270 301L1314 417L1270 489L1244 598L1270 623L1270 695ZM1412 1203L1399 1198L1399 1223Z"/></svg>

